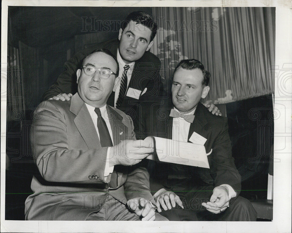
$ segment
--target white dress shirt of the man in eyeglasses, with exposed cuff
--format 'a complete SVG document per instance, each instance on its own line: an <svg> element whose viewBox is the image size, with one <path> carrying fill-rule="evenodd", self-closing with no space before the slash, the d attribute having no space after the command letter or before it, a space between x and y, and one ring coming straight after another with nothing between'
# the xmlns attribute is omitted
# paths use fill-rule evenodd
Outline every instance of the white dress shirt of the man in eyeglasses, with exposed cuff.
<svg viewBox="0 0 292 233"><path fill-rule="evenodd" d="M86 104L86 103L85 103ZM86 107L89 111L89 114L91 116L91 119L93 121L93 124L94 124L94 127L95 127L95 130L97 132L97 135L98 137L100 138L99 136L99 131L98 131L98 127L97 127L97 114L95 113L94 109L95 107L93 106L90 106L88 104L86 104ZM105 123L107 125L107 129L109 130L109 135L110 135L110 138L112 139L112 128L110 126L110 123L109 123L109 118L108 118L108 115L107 115L107 108L106 108L106 105L99 108L100 109L100 113L102 115L102 118L105 120ZM113 139L112 139L112 143L113 143ZM114 143L113 143L114 144ZM107 148L107 159L105 161L105 173L104 173L104 176L105 176L105 179L106 177L112 173L114 171L114 166L112 167L109 167L109 147Z"/></svg>

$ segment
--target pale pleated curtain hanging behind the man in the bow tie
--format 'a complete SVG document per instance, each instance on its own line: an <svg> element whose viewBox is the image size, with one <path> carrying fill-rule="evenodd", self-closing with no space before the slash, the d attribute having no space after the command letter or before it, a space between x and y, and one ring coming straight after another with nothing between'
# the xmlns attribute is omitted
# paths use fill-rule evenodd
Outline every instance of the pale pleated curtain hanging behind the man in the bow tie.
<svg viewBox="0 0 292 233"><path fill-rule="evenodd" d="M206 100L228 103L274 93L275 8L154 7L158 31L152 52L169 87L181 59L210 71Z"/></svg>

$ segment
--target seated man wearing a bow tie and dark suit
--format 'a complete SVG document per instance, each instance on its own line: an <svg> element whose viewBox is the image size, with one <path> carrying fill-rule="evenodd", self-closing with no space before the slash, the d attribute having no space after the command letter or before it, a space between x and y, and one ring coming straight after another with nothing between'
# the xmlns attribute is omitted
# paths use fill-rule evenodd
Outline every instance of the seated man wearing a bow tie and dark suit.
<svg viewBox="0 0 292 233"><path fill-rule="evenodd" d="M255 221L251 203L239 197L241 176L232 157L227 118L212 115L199 103L210 90L209 79L201 62L182 60L173 74L171 103L150 106L148 117L135 122L137 137L197 143L210 153L210 169L149 161L150 189L158 211L163 209L169 220Z"/></svg>

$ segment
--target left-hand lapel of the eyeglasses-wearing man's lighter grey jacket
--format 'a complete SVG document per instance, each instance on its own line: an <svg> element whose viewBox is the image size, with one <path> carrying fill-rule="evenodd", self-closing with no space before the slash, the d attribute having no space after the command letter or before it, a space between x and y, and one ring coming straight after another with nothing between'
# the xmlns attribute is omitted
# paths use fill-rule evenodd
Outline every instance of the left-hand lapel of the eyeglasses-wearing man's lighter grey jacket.
<svg viewBox="0 0 292 233"><path fill-rule="evenodd" d="M101 147L92 118L78 93L71 98L70 111L76 115L74 123L88 146L88 149L95 149L96 146ZM86 124L84 124L84 122L86 122Z"/></svg>

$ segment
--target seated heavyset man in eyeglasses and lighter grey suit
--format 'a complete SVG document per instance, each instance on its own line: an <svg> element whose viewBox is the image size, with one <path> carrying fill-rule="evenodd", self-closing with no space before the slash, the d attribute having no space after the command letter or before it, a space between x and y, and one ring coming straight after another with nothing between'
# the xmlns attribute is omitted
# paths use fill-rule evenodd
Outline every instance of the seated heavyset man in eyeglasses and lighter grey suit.
<svg viewBox="0 0 292 233"><path fill-rule="evenodd" d="M37 107L31 141L39 174L26 220L167 220L154 212L146 169L131 167L154 149L136 141L128 115L106 104L118 74L114 55L95 50L77 70L70 101Z"/></svg>

